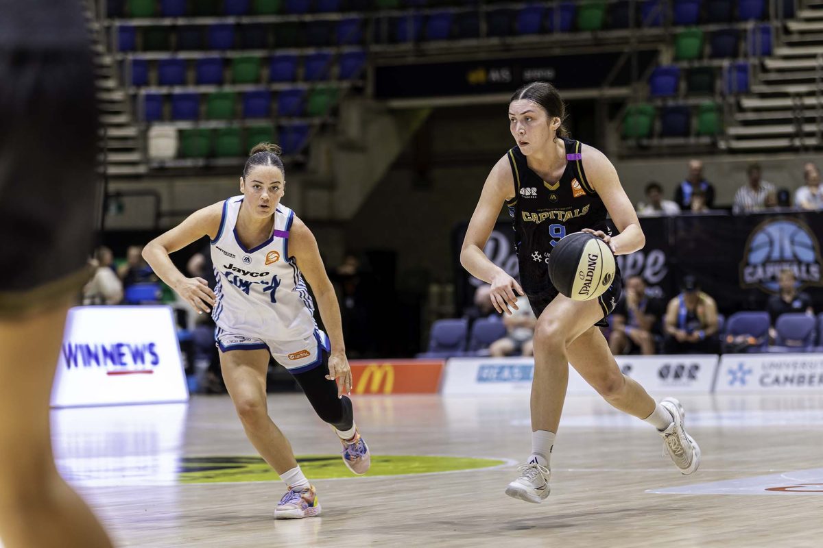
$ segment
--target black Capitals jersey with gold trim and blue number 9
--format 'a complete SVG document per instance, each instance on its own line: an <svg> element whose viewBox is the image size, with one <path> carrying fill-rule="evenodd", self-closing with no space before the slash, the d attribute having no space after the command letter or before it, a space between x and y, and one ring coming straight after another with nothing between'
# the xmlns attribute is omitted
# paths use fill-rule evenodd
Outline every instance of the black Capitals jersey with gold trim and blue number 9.
<svg viewBox="0 0 823 548"><path fill-rule="evenodd" d="M563 141L566 168L557 182L543 181L529 169L519 147L509 150L515 194L506 205L514 224L520 283L532 295L552 288L547 263L551 249L561 237L584 228L611 233L606 223L606 206L583 169L583 144L579 140Z"/></svg>

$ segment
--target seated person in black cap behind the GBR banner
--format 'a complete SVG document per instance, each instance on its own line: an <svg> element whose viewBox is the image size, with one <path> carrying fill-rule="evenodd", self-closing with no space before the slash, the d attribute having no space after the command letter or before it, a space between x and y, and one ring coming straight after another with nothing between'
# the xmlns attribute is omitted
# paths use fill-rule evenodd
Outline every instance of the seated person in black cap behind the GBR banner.
<svg viewBox="0 0 823 548"><path fill-rule="evenodd" d="M667 354L714 354L719 343L718 307L712 297L700 291L694 276L687 275L681 283L681 293L666 309L663 341Z"/></svg>

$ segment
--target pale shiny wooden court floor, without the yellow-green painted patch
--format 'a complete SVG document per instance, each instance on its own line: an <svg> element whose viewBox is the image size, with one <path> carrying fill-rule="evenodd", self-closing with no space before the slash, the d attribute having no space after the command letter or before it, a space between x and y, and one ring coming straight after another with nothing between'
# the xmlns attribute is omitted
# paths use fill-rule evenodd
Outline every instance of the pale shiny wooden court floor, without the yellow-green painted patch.
<svg viewBox="0 0 823 548"><path fill-rule="evenodd" d="M823 394L680 398L703 450L695 475L663 457L651 426L570 397L551 495L528 504L504 495L531 449L528 394L357 397L375 455L504 463L314 480L323 515L295 521L272 519L279 481L179 483L182 457L255 454L226 396L54 410L53 439L119 546L823 546ZM296 454L339 451L301 394L269 406Z"/></svg>

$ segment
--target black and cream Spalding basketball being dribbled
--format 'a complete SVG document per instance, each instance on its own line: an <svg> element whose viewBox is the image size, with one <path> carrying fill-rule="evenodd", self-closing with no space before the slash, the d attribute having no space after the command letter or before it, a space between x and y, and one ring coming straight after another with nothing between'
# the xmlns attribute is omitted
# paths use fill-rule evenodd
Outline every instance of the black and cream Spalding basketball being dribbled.
<svg viewBox="0 0 823 548"><path fill-rule="evenodd" d="M615 256L606 242L589 233L560 239L549 256L549 278L574 301L596 299L615 279Z"/></svg>

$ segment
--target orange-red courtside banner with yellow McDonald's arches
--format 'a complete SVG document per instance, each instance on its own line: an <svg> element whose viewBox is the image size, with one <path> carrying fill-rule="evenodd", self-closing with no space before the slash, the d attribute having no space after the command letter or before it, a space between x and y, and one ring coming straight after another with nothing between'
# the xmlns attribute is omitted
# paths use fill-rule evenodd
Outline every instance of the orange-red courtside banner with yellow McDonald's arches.
<svg viewBox="0 0 823 548"><path fill-rule="evenodd" d="M437 394L443 360L351 360L353 394Z"/></svg>

